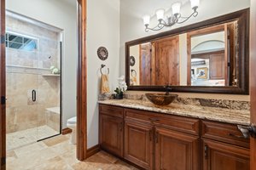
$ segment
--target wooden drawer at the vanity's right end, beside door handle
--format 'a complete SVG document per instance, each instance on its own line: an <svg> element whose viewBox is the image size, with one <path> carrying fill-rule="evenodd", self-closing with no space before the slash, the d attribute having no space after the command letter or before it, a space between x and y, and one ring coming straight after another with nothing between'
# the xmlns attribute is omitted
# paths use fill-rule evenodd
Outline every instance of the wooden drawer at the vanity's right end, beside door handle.
<svg viewBox="0 0 256 170"><path fill-rule="evenodd" d="M249 139L243 138L242 133L235 124L208 121L202 121L201 124L202 138L215 139L249 148Z"/></svg>

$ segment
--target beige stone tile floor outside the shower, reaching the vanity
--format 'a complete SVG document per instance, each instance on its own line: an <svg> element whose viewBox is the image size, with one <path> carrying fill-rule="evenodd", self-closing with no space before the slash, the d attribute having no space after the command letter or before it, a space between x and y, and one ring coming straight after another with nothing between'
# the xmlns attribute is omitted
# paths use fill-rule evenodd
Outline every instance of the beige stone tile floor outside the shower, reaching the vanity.
<svg viewBox="0 0 256 170"><path fill-rule="evenodd" d="M69 135L29 144L7 153L7 170L136 170L104 151L86 161L76 159L76 145Z"/></svg>

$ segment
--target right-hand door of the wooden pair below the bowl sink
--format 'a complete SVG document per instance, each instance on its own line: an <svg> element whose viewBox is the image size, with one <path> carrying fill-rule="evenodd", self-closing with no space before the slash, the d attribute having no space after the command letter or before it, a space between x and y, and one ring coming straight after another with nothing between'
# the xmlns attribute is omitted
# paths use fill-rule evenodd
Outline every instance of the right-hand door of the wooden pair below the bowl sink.
<svg viewBox="0 0 256 170"><path fill-rule="evenodd" d="M185 133L155 128L156 170L200 169L199 137Z"/></svg>

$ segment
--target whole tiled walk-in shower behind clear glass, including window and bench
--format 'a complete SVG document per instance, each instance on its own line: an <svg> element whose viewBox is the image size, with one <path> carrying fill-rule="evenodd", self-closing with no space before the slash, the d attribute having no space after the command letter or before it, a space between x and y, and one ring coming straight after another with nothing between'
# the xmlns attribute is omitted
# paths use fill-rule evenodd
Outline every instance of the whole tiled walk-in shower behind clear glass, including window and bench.
<svg viewBox="0 0 256 170"><path fill-rule="evenodd" d="M6 14L7 150L14 150L61 133L62 30Z"/></svg>

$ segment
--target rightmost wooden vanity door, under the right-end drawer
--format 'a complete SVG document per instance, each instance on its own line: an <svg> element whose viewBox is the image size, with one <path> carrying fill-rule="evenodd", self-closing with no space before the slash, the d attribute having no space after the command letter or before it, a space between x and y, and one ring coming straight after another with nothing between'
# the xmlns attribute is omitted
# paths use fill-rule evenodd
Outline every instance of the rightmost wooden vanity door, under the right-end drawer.
<svg viewBox="0 0 256 170"><path fill-rule="evenodd" d="M202 139L202 170L249 170L249 149Z"/></svg>

